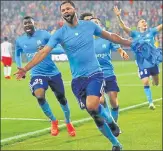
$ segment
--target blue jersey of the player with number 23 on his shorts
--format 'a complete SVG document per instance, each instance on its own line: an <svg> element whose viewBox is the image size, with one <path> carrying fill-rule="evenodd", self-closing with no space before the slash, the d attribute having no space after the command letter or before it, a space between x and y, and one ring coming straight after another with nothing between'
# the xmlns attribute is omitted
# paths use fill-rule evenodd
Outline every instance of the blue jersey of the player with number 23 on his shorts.
<svg viewBox="0 0 163 151"><path fill-rule="evenodd" d="M36 30L32 36L24 34L17 38L15 44L15 60L18 67L21 67L21 53L25 53L28 61L39 51L39 47L45 46L51 37L45 30ZM51 59L51 54L31 69L31 76L54 76L59 70Z"/></svg>

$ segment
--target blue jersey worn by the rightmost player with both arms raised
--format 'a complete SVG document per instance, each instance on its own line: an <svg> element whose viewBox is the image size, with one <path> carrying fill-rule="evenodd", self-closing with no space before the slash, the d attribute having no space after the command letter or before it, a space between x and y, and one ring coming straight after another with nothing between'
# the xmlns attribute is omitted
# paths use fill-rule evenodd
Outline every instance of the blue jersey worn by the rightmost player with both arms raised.
<svg viewBox="0 0 163 151"><path fill-rule="evenodd" d="M150 43L152 46L154 46L154 43L155 43L154 38L155 38L156 34L158 34L157 29L150 28L143 33L138 32L138 31L131 31L130 36L134 40L143 39L145 42ZM137 64L139 64L138 60L139 60L139 58L136 59ZM151 68L153 66L155 66L155 65L152 64L150 61L147 61L146 59L144 59L143 64L139 68Z"/></svg>

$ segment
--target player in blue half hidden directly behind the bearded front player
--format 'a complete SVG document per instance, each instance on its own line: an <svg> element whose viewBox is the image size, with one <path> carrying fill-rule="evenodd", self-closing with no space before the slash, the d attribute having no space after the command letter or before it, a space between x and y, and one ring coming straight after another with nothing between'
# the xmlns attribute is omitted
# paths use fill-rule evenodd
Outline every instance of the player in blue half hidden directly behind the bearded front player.
<svg viewBox="0 0 163 151"><path fill-rule="evenodd" d="M83 13L80 16L80 19L91 20L97 25L99 25L101 28L104 28L101 24L100 19L93 17L92 13L89 12ZM114 68L111 62L111 50L112 51L118 50L121 57L124 58L125 60L127 60L129 56L122 48L120 48L120 45L114 44L100 37L95 37L94 44L95 44L95 52L96 52L97 59L100 63L102 71L104 72L104 79L105 79L104 90L105 93L108 94L110 104L112 107L111 115L114 118L114 120L117 122L118 114L119 114L119 103L118 103L117 94L120 90L117 84ZM110 110L107 104L107 99L106 97L104 97L104 95L101 96L100 103L104 105L104 108L106 108L108 114L110 114Z"/></svg>

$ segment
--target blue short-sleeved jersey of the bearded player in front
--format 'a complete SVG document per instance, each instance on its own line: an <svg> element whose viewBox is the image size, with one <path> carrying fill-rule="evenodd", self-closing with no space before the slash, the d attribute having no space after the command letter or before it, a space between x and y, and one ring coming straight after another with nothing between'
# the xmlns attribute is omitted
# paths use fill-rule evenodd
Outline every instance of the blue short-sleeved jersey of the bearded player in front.
<svg viewBox="0 0 163 151"><path fill-rule="evenodd" d="M89 76L102 71L94 51L93 35L100 36L102 29L90 21L78 21L75 27L62 26L50 38L47 46L60 43L69 59L73 78Z"/></svg>

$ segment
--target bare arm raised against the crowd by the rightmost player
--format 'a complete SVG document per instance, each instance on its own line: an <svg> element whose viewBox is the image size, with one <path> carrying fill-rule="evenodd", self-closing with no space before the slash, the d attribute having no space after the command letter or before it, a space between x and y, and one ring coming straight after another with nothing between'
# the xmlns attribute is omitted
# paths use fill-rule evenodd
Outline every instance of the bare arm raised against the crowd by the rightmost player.
<svg viewBox="0 0 163 151"><path fill-rule="evenodd" d="M131 32L131 28L127 27L125 25L125 23L123 22L123 20L121 19L121 9L119 10L117 6L114 6L114 13L116 14L118 21L119 21L119 25L120 27L128 34L130 35Z"/></svg>

